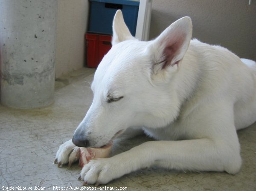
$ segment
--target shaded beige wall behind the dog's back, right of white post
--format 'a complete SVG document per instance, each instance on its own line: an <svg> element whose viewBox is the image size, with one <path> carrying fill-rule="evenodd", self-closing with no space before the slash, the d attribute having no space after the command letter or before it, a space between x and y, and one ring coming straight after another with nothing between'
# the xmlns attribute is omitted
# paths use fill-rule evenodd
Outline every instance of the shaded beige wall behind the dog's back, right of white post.
<svg viewBox="0 0 256 191"><path fill-rule="evenodd" d="M256 0L153 0L150 38L183 16L193 22L193 37L256 60Z"/></svg>

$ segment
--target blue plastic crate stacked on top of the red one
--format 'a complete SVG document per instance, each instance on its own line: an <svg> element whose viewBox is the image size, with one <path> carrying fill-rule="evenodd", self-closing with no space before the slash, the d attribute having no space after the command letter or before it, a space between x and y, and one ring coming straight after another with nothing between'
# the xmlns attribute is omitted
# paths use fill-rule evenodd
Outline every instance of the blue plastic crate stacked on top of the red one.
<svg viewBox="0 0 256 191"><path fill-rule="evenodd" d="M139 1L133 0L90 0L88 32L112 34L113 17L120 9L128 29L135 36L139 5Z"/></svg>

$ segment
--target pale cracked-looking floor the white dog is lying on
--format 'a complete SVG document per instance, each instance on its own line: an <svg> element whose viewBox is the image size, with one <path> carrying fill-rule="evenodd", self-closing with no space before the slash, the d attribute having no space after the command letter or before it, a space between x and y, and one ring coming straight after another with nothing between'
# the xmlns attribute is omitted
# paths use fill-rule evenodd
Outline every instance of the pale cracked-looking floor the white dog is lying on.
<svg viewBox="0 0 256 191"><path fill-rule="evenodd" d="M19 110L0 105L0 190L10 186L46 190L83 188L77 180L77 164L58 168L53 161L58 146L72 137L90 106L92 73L93 70L84 69L58 79L55 103L46 108ZM256 191L256 124L238 134L243 165L236 175L149 168L106 186L127 187L129 191ZM136 137L117 142L112 154L146 140L150 139Z"/></svg>

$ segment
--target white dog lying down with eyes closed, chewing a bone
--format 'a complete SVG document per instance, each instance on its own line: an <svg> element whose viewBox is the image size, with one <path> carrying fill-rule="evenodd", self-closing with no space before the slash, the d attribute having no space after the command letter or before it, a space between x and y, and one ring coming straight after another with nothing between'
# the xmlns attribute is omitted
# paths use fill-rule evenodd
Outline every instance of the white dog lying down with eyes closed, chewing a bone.
<svg viewBox="0 0 256 191"><path fill-rule="evenodd" d="M256 121L256 63L226 48L191 40L183 17L159 37L131 36L122 12L113 20L113 47L96 70L93 103L72 140L60 146L58 165L77 160L76 146L102 147L128 128L156 141L90 161L81 179L106 184L141 168L226 171L241 167L236 130Z"/></svg>

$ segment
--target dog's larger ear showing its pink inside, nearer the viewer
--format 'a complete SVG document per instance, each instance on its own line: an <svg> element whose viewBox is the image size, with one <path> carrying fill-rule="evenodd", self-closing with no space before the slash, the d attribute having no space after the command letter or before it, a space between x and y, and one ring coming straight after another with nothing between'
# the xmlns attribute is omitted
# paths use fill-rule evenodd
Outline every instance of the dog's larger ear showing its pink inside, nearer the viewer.
<svg viewBox="0 0 256 191"><path fill-rule="evenodd" d="M192 21L183 17L172 23L149 45L153 72L178 64L184 57L192 37Z"/></svg>

